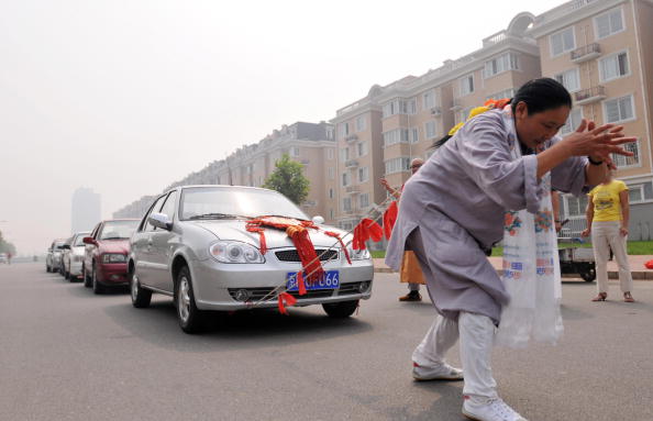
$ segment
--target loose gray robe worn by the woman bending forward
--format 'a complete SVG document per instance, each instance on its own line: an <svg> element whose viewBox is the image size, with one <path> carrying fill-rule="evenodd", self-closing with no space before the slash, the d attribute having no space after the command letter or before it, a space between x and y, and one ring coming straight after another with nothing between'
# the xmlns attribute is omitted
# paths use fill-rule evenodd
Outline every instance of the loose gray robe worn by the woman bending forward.
<svg viewBox="0 0 653 421"><path fill-rule="evenodd" d="M499 322L509 297L480 251L503 237L507 210L535 212L541 197L535 155L513 160L519 143L512 119L502 110L487 111L465 123L407 182L386 253L399 269L409 235L420 230L431 278L429 292L436 310L457 318L460 311L485 314ZM561 137L545 143L551 147ZM519 146L517 146L519 147ZM584 157L572 157L551 173L555 190L579 196L585 190Z"/></svg>

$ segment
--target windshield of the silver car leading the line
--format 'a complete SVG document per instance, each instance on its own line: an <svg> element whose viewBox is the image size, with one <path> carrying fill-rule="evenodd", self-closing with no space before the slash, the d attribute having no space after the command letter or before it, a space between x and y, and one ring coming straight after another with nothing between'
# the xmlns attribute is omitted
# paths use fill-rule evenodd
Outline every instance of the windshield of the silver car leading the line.
<svg viewBox="0 0 653 421"><path fill-rule="evenodd" d="M184 189L179 214L181 220L253 218L265 214L309 219L295 203L276 191L239 187Z"/></svg>

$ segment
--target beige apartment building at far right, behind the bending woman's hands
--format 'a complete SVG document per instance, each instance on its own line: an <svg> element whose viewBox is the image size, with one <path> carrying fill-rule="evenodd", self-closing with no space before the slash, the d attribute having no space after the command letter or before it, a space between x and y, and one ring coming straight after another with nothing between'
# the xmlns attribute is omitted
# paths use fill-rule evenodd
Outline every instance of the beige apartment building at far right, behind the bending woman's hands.
<svg viewBox="0 0 653 421"><path fill-rule="evenodd" d="M616 156L617 177L629 186L630 239L653 236L653 1L575 0L535 18L529 33L538 41L542 75L572 92L574 108L561 134L583 118L616 123L637 136L627 147L633 157ZM587 198L566 196L563 212L568 235L586 225Z"/></svg>

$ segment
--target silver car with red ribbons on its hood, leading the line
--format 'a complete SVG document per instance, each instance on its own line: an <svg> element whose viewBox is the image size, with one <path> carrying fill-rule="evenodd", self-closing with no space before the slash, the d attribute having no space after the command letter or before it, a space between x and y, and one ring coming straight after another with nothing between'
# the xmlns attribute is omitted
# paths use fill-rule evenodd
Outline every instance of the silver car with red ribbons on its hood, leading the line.
<svg viewBox="0 0 653 421"><path fill-rule="evenodd" d="M309 221L285 196L261 188L186 186L158 197L130 241L132 303L147 307L153 292L170 296L181 329L191 333L202 328L208 310L277 307L280 292L295 297L299 307L322 304L335 318L351 315L359 299L370 297L369 253L347 246L347 263L340 242L325 232L340 234L344 244L351 235L326 225L309 229L325 276L299 296L302 266L286 232L265 229L262 254L259 234L245 229L247 220L273 213Z"/></svg>

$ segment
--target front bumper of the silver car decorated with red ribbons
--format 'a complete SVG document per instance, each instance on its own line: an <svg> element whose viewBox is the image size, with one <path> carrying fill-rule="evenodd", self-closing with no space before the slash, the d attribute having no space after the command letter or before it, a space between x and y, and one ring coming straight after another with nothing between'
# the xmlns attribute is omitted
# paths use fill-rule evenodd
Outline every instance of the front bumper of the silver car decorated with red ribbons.
<svg viewBox="0 0 653 421"><path fill-rule="evenodd" d="M277 292L284 292L285 288L277 292L269 292L286 285L288 273L301 269L299 263L278 262L274 258L267 258L264 264L221 264L213 259L207 259L192 262L191 266L197 307L200 310L220 311L277 307ZM374 277L372 261L354 261L352 265L346 262L332 261L323 262L322 266L324 270L339 270L340 288L309 290L302 297L297 292L290 292L297 298L296 307L372 297ZM363 292L358 290L361 282L368 282L367 289ZM239 289L246 289L252 293L250 301L243 302L234 298L235 291ZM265 296L267 296L265 301L261 301Z"/></svg>

